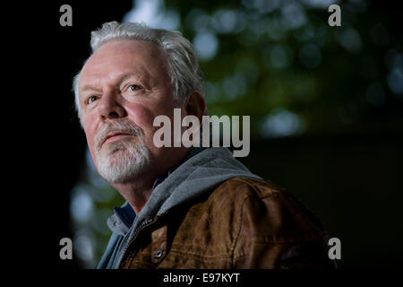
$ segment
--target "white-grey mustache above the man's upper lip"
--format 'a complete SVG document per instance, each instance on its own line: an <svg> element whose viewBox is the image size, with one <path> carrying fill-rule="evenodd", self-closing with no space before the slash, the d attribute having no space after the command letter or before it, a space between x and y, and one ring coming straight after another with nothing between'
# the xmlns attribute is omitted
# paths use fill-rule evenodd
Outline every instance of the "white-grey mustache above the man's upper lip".
<svg viewBox="0 0 403 287"><path fill-rule="evenodd" d="M102 144L105 143L107 135L113 132L120 132L126 135L143 136L144 133L140 126L136 126L127 120L115 120L107 122L99 128L95 137L95 146L97 151L100 151Z"/></svg>

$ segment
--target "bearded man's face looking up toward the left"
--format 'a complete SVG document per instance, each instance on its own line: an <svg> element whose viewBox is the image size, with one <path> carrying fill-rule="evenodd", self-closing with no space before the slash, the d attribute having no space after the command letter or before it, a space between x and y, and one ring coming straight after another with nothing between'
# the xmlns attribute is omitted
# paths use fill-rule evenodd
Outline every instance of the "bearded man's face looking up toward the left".
<svg viewBox="0 0 403 287"><path fill-rule="evenodd" d="M173 119L166 60L151 42L120 39L102 45L80 77L82 125L100 175L122 183L152 170L159 173L175 149L157 148L155 117ZM160 170L159 170L160 169Z"/></svg>

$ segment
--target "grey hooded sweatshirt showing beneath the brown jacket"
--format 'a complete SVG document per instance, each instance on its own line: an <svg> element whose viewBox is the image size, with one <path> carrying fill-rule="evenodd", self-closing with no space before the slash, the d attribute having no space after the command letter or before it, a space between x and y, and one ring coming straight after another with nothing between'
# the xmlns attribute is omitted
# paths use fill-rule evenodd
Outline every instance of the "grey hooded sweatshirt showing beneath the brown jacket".
<svg viewBox="0 0 403 287"><path fill-rule="evenodd" d="M108 218L107 225L113 233L98 268L118 268L128 243L155 216L210 192L230 178L262 179L236 161L232 152L225 147L193 148L184 162L152 190L149 200L135 215L131 226L124 224L116 214ZM128 207L127 202L122 206Z"/></svg>

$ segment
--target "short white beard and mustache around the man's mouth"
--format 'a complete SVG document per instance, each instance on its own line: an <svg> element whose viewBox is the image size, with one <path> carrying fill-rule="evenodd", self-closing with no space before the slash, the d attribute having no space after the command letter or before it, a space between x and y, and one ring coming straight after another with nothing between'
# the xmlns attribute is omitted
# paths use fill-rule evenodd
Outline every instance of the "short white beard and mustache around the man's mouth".
<svg viewBox="0 0 403 287"><path fill-rule="evenodd" d="M133 143L133 137L123 139L116 143L104 143L100 141L111 130L130 132L137 137ZM124 183L135 178L150 166L150 150L144 143L141 128L126 123L118 123L112 127L106 126L99 130L96 140L96 159L98 172L102 178L110 183Z"/></svg>

